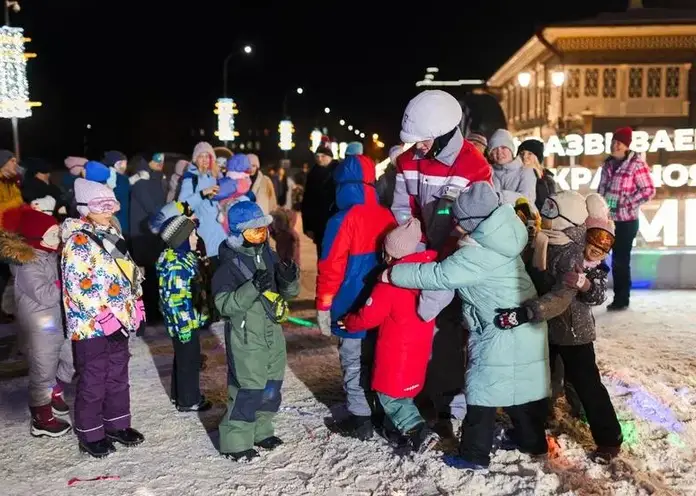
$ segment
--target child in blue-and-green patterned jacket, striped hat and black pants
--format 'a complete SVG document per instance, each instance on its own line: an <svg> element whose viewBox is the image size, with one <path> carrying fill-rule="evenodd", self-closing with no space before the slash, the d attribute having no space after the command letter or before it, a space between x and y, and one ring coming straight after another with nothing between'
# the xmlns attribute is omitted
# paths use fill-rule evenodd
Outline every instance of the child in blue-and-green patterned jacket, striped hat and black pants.
<svg viewBox="0 0 696 496"><path fill-rule="evenodd" d="M160 307L174 345L171 399L180 412L206 411L212 404L199 385L199 330L208 316L196 305L200 280L195 221L174 215L162 224L160 237L167 245L157 260Z"/></svg>

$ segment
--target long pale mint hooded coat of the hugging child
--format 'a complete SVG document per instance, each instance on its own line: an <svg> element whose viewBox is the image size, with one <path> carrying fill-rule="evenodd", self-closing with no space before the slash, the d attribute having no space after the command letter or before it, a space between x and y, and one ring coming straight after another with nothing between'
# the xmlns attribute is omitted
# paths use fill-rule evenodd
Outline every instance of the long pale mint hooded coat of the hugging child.
<svg viewBox="0 0 696 496"><path fill-rule="evenodd" d="M506 407L550 394L546 322L500 330L498 308L514 308L537 297L520 253L527 230L511 205L503 205L440 263L401 264L393 284L405 288L456 289L469 335L466 400L469 405Z"/></svg>

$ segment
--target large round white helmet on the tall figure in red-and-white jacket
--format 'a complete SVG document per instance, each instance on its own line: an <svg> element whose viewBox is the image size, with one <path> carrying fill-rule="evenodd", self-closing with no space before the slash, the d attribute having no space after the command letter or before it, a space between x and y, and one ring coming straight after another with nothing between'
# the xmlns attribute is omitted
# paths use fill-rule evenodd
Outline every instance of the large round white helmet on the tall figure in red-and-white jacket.
<svg viewBox="0 0 696 496"><path fill-rule="evenodd" d="M401 141L416 143L439 138L462 121L462 106L442 90L425 90L413 98L401 119Z"/></svg>

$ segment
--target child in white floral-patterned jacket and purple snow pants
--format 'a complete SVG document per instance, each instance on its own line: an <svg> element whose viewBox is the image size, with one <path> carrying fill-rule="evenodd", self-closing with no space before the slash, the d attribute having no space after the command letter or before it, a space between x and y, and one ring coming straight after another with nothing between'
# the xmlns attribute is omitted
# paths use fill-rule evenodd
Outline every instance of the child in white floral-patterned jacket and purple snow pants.
<svg viewBox="0 0 696 496"><path fill-rule="evenodd" d="M144 440L131 428L128 384L128 337L145 320L142 276L111 224L119 208L113 190L78 178L75 199L82 217L61 227L63 307L77 372L75 431L80 450L101 458L115 451L114 442Z"/></svg>

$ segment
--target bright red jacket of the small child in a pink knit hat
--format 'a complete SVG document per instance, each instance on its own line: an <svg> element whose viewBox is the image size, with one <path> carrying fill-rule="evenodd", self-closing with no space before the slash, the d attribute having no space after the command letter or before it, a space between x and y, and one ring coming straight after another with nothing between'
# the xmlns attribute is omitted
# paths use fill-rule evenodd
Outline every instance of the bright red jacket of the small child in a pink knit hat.
<svg viewBox="0 0 696 496"><path fill-rule="evenodd" d="M401 263L433 262L432 250L408 255ZM344 320L347 331L379 326L372 388L393 398L413 398L425 383L435 320L418 317L420 290L377 283L366 305Z"/></svg>

